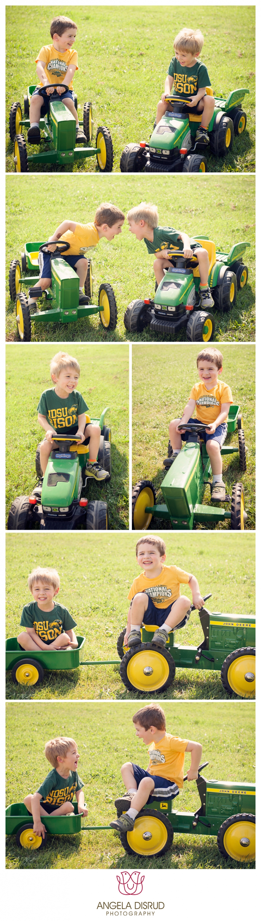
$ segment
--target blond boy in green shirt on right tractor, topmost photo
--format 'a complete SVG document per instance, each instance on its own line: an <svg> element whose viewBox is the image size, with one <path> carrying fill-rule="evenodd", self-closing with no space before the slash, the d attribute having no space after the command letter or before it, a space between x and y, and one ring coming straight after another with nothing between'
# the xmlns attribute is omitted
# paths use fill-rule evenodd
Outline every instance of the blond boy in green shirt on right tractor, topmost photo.
<svg viewBox="0 0 261 921"><path fill-rule="evenodd" d="M175 57L172 58L165 78L165 91L157 105L156 123L160 122L166 111L173 111L173 106L165 101L173 94L187 103L187 111L201 114L201 124L196 134L195 143L210 144L208 125L215 108L215 100L206 92L210 87L210 77L205 64L199 61L199 54L204 38L199 29L181 29L174 40Z"/></svg>

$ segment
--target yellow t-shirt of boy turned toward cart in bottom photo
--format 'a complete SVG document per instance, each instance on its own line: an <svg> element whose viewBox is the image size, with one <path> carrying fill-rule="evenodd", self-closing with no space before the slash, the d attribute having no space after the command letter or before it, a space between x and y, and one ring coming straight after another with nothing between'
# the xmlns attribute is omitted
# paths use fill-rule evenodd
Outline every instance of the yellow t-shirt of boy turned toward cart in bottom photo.
<svg viewBox="0 0 261 921"><path fill-rule="evenodd" d="M152 742L148 749L150 764L148 773L173 780L177 787L183 787L185 752L188 739L179 739L166 732L160 742Z"/></svg>

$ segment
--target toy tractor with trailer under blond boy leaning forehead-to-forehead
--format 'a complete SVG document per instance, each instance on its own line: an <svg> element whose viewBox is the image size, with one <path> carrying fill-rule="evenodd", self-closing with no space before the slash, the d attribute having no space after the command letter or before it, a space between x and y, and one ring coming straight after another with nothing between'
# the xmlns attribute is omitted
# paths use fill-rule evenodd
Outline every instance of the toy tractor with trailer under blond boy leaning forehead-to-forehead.
<svg viewBox="0 0 261 921"><path fill-rule="evenodd" d="M247 282L248 269L243 256L250 243L235 243L229 252L217 251L208 237L193 236L209 253L209 286L214 307L221 312L233 309L237 290ZM183 252L171 252L169 269L159 285L155 283L155 296L132 300L124 315L124 326L129 332L143 332L145 328L164 336L176 336L186 327L189 342L212 342L215 320L212 313L200 309L199 263L196 256L187 259Z"/></svg>

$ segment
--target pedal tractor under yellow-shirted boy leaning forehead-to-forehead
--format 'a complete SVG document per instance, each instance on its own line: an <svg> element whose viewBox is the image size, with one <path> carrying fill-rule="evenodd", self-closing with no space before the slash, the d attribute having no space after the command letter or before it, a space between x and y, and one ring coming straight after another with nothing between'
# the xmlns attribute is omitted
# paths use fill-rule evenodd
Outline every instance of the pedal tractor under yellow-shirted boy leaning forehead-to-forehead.
<svg viewBox="0 0 261 921"><path fill-rule="evenodd" d="M117 326L117 304L113 288L100 285L97 296L97 305L90 305L93 295L92 263L88 259L87 274L85 279L85 304L79 304L79 277L64 259L62 252L70 249L66 240L58 240L56 251L51 252L51 287L42 292L41 287L35 288L39 278L38 257L40 251L47 251L47 243L25 243L25 251L21 254L21 263L13 259L9 269L9 294L11 300L16 302L17 331L20 341L28 343L31 340L31 322L34 323L74 323L77 320L99 313L100 321L105 331L115 330ZM31 274L34 272L35 274ZM27 274L30 273L30 274ZM22 286L29 288L29 294L34 297L45 297L47 310L37 309L28 305L28 297L21 290ZM82 298L83 299L83 298ZM51 307L49 303L51 302ZM54 302L55 306L52 306Z"/></svg>

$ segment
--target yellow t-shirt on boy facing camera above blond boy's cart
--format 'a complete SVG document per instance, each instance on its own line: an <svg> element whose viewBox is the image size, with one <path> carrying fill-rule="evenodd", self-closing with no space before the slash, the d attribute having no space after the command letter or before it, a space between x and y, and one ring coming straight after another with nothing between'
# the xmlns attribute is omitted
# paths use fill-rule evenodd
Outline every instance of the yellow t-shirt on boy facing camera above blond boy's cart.
<svg viewBox="0 0 261 921"><path fill-rule="evenodd" d="M160 576L146 578L142 572L141 576L134 578L128 598L131 601L138 591L144 591L152 599L155 607L162 611L180 597L180 582L188 583L189 574L178 566L164 564Z"/></svg>

